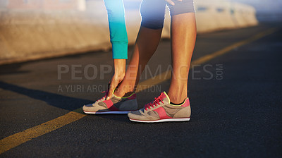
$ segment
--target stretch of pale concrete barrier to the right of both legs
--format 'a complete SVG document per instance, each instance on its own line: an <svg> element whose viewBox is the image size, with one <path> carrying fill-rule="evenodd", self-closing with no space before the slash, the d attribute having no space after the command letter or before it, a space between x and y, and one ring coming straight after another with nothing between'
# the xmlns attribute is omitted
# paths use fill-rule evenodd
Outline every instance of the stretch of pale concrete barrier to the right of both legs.
<svg viewBox="0 0 282 158"><path fill-rule="evenodd" d="M197 31L243 28L257 25L255 8L231 1L195 1Z"/></svg>

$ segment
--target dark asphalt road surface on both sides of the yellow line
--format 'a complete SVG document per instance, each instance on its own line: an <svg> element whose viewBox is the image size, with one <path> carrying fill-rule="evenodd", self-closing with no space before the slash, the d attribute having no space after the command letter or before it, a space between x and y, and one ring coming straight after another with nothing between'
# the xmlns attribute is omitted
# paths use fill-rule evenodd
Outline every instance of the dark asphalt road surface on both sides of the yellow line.
<svg viewBox="0 0 282 158"><path fill-rule="evenodd" d="M192 60L281 26L264 23L198 35ZM282 29L195 66L188 82L188 122L147 124L130 122L126 115L88 115L0 157L282 157L281 50ZM111 73L100 70L112 66L109 59L110 51L99 51L0 66L0 139L102 97ZM170 63L166 39L142 80L150 78L149 72L165 72ZM70 68L61 79L65 69L58 71L58 66ZM96 66L97 74L91 68L87 76L72 73L72 66L82 72ZM168 85L169 80L139 92L140 107Z"/></svg>

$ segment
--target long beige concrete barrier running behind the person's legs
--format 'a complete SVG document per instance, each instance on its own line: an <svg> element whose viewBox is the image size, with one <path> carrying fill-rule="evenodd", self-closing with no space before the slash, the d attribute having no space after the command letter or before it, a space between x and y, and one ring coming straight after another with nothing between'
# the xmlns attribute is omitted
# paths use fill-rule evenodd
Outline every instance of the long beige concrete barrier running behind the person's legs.
<svg viewBox="0 0 282 158"><path fill-rule="evenodd" d="M106 8L91 1L82 11L0 11L0 64L111 49ZM195 1L197 32L257 25L255 9L229 1ZM125 12L129 44L140 28L140 13ZM170 37L166 9L163 38Z"/></svg>

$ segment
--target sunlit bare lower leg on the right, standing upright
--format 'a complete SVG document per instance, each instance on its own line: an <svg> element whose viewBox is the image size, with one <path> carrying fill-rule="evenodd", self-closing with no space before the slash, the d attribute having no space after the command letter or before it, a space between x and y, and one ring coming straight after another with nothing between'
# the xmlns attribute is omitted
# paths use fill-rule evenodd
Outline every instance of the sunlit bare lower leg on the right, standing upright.
<svg viewBox="0 0 282 158"><path fill-rule="evenodd" d="M173 103L187 98L188 73L197 35L195 13L171 17L171 56L173 74L168 97Z"/></svg>

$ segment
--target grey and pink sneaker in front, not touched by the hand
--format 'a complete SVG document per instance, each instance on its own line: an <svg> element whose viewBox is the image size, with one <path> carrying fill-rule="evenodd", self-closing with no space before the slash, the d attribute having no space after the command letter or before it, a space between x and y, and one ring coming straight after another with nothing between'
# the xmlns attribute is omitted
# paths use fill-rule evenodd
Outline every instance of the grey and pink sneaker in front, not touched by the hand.
<svg viewBox="0 0 282 158"><path fill-rule="evenodd" d="M128 117L135 122L166 122L166 121L189 121L191 115L189 98L183 104L172 105L166 92L155 98L154 102L146 104L143 109L130 111Z"/></svg>

